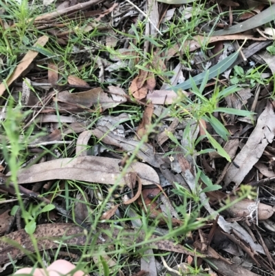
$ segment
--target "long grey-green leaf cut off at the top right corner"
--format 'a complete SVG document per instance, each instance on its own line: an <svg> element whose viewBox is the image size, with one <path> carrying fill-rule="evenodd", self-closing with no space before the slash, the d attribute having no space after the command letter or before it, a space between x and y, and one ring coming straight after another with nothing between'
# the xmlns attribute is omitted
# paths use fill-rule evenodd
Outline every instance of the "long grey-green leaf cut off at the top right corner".
<svg viewBox="0 0 275 276"><path fill-rule="evenodd" d="M250 19L247 19L239 24L232 25L232 27L228 29L219 30L213 32L211 36L225 36L228 34L237 34L239 32L245 32L248 30L252 30L257 28L261 25L265 25L265 23L274 21L274 14L275 14L275 4L263 10L259 14L254 15Z"/></svg>

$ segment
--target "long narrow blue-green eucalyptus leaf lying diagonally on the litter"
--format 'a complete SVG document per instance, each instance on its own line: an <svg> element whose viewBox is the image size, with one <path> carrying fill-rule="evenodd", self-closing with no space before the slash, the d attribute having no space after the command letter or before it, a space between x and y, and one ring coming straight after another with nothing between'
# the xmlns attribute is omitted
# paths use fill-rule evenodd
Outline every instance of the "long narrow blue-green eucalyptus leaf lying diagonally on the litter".
<svg viewBox="0 0 275 276"><path fill-rule="evenodd" d="M228 70L228 68L236 61L237 57L239 55L239 52L234 52L234 54L231 54L230 56L226 57L223 59L221 62L217 63L213 67L210 67L209 69L209 76L208 80L210 78L214 78L218 76L219 74L225 72ZM198 74L197 76L193 77L193 81L195 82L196 85L199 85L203 82L204 77L208 74L207 72L202 72L201 74ZM175 85L173 87L168 88L168 90L174 90L177 92L178 89L189 89L191 87L191 80L188 79L187 81L184 81L184 83L179 83L179 85Z"/></svg>

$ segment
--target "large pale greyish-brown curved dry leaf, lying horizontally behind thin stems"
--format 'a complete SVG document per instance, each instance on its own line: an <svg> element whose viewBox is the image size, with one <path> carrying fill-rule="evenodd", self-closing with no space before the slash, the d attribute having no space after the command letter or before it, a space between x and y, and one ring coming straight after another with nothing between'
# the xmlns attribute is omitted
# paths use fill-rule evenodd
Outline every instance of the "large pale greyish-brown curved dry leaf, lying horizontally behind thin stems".
<svg viewBox="0 0 275 276"><path fill-rule="evenodd" d="M33 183L45 180L64 179L96 182L101 184L115 184L119 178L121 160L98 156L80 156L76 158L61 158L34 164L28 169L21 169L18 173L18 183ZM140 176L142 184L159 183L155 170L142 162L133 162L128 172L133 171ZM124 178L120 184L126 184Z"/></svg>

